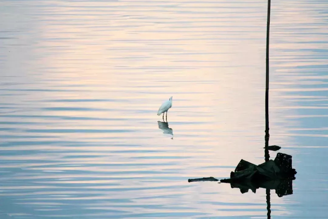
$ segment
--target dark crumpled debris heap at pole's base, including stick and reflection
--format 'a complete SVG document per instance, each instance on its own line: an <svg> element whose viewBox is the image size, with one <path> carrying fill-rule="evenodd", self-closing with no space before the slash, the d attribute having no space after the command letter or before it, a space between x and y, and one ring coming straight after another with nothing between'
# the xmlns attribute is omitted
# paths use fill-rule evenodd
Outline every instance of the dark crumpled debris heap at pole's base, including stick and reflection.
<svg viewBox="0 0 328 219"><path fill-rule="evenodd" d="M229 179L220 180L221 183L230 183L232 188L239 188L241 193L251 189L254 193L257 188L275 189L279 197L293 194L293 180L296 170L292 168L292 156L277 153L275 160L255 165L241 160ZM188 182L218 181L213 177L189 179Z"/></svg>

